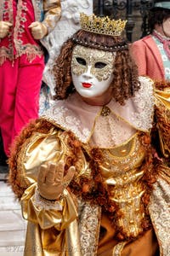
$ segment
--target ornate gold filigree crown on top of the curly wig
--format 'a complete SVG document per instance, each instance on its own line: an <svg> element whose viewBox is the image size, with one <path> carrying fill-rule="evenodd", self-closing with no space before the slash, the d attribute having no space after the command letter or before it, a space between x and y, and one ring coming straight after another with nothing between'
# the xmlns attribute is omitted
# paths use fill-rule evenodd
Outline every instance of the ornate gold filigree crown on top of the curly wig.
<svg viewBox="0 0 170 256"><path fill-rule="evenodd" d="M120 36L126 26L127 20L111 20L108 16L97 17L96 15L80 14L81 28L97 34Z"/></svg>

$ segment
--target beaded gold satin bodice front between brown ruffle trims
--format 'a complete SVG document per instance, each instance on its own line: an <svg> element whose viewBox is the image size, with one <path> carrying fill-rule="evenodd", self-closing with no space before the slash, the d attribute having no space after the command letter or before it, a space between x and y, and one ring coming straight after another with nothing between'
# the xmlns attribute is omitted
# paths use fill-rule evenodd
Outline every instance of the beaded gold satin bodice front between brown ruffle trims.
<svg viewBox="0 0 170 256"><path fill-rule="evenodd" d="M122 146L103 149L104 161L100 165L105 183L109 186L110 199L118 205L116 226L126 236L136 237L143 231L144 207L141 197L144 171L139 168L144 160L144 147L134 136Z"/></svg>

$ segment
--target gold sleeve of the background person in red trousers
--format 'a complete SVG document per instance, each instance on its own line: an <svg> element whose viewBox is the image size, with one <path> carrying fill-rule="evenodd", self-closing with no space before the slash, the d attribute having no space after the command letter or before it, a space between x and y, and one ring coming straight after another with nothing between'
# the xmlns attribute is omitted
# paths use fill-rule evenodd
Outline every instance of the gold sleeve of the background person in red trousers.
<svg viewBox="0 0 170 256"><path fill-rule="evenodd" d="M48 33L56 26L61 15L61 4L59 0L45 0L43 1L44 20L42 23L47 26Z"/></svg>

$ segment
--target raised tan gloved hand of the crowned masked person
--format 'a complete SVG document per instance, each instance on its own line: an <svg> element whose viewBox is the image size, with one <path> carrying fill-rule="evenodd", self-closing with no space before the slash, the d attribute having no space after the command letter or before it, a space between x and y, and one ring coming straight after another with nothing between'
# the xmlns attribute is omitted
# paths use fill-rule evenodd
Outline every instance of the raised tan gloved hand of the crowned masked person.
<svg viewBox="0 0 170 256"><path fill-rule="evenodd" d="M37 177L37 188L40 195L48 200L57 200L63 190L69 185L75 173L75 167L71 166L64 177L65 163L48 163L40 166Z"/></svg>

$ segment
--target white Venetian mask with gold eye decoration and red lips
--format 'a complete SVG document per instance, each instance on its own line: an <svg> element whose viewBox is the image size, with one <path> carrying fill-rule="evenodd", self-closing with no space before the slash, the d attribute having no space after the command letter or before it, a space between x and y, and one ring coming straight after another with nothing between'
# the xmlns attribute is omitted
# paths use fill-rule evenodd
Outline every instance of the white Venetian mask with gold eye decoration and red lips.
<svg viewBox="0 0 170 256"><path fill-rule="evenodd" d="M101 96L110 87L116 53L77 45L73 49L71 75L83 97Z"/></svg>

